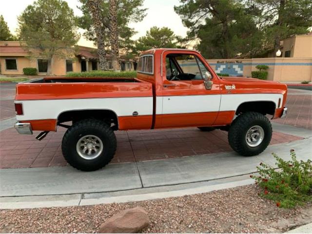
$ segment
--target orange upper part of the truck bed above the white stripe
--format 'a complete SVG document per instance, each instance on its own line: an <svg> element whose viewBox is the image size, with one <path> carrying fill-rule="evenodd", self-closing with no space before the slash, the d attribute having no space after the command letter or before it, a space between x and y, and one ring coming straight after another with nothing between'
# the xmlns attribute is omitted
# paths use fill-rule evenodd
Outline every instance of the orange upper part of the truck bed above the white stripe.
<svg viewBox="0 0 312 234"><path fill-rule="evenodd" d="M152 84L137 78L39 78L16 86L16 100L153 97Z"/></svg>

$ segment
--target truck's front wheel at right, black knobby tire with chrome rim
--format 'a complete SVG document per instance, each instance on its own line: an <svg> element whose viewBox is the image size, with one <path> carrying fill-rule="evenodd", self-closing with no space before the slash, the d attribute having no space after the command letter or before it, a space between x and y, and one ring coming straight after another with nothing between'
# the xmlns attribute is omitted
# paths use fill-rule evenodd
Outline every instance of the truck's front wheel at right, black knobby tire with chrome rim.
<svg viewBox="0 0 312 234"><path fill-rule="evenodd" d="M262 153L270 144L271 138L270 120L257 112L246 112L236 117L228 134L230 146L242 156Z"/></svg>

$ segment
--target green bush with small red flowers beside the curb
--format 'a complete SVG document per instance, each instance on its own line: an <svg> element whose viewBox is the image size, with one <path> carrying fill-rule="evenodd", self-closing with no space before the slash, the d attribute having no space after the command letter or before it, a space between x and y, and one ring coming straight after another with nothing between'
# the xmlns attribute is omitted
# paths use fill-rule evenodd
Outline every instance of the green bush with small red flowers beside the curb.
<svg viewBox="0 0 312 234"><path fill-rule="evenodd" d="M275 201L276 206L283 208L292 208L312 201L312 161L298 161L293 150L290 161L285 161L276 154L273 154L273 157L280 170L260 163L257 167L259 176L250 176L263 188L260 195Z"/></svg>

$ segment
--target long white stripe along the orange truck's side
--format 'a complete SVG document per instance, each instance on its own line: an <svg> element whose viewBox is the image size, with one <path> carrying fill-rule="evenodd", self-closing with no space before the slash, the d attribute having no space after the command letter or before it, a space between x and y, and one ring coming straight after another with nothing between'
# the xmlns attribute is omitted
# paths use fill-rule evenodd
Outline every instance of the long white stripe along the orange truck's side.
<svg viewBox="0 0 312 234"><path fill-rule="evenodd" d="M235 111L244 102L273 101L278 105L282 94L226 94L156 97L156 115L185 114L215 111ZM17 120L57 119L59 114L71 110L112 110L118 117L153 115L153 98L81 98L49 100L17 100L23 104L24 115Z"/></svg>

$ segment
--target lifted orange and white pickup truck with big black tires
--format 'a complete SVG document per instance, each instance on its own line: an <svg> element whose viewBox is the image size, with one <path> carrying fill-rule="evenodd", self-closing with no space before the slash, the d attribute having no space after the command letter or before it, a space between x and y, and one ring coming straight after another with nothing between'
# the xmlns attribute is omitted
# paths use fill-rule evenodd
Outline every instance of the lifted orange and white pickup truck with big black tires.
<svg viewBox="0 0 312 234"><path fill-rule="evenodd" d="M218 77L196 51L153 49L140 55L137 78L46 77L19 83L15 128L20 134L42 131L39 140L58 126L68 128L63 156L83 171L111 161L115 130L221 129L228 131L235 152L254 156L270 143L268 117L286 115L286 96L287 86L278 82Z"/></svg>

